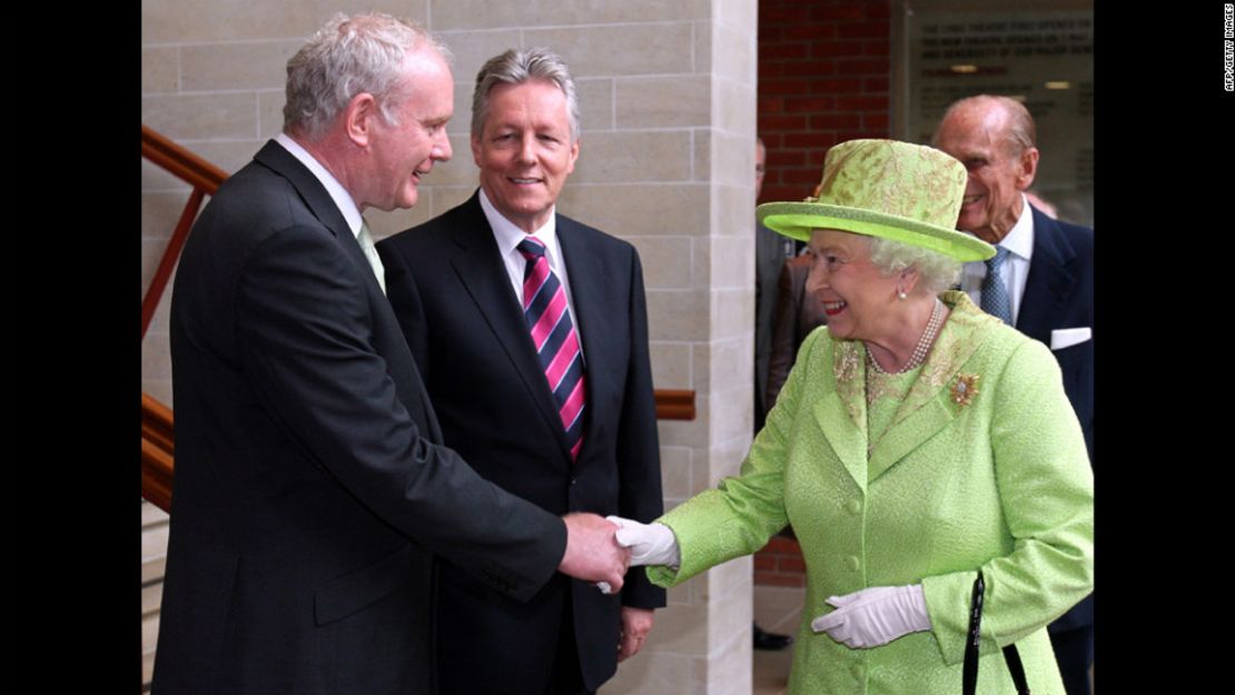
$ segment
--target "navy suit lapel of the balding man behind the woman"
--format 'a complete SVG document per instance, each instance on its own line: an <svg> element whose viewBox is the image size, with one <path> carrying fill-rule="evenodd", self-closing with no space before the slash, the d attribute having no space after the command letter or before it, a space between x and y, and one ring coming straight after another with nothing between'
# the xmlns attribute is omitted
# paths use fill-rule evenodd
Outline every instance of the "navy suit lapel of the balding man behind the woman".
<svg viewBox="0 0 1235 695"><path fill-rule="evenodd" d="M1034 212L1034 257L1020 300L1016 328L1026 336L1051 344L1052 321L1063 316L1076 284L1071 264L1076 253L1067 244L1058 225L1036 209Z"/></svg>

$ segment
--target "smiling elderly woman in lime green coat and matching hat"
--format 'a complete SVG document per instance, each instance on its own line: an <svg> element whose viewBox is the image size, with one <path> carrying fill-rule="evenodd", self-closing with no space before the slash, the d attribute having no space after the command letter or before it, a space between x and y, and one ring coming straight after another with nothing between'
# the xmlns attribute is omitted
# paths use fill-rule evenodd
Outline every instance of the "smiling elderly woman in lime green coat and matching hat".
<svg viewBox="0 0 1235 695"><path fill-rule="evenodd" d="M758 207L806 239L827 312L741 475L656 523L611 517L672 586L793 530L806 563L792 694L957 693L977 573L977 691L1063 695L1046 625L1093 584L1093 478L1046 346L952 286L994 248L952 230L966 169L929 147L851 141L818 199Z"/></svg>

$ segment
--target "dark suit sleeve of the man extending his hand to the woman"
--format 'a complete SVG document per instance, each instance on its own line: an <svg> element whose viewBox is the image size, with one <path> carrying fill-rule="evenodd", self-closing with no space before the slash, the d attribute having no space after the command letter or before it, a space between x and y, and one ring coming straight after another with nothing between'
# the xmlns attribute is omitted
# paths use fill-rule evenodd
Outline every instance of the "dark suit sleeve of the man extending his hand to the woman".
<svg viewBox="0 0 1235 695"><path fill-rule="evenodd" d="M550 579L564 525L421 436L373 347L357 267L329 232L272 235L248 259L236 302L242 368L305 456L394 528L494 588L526 600Z"/></svg>

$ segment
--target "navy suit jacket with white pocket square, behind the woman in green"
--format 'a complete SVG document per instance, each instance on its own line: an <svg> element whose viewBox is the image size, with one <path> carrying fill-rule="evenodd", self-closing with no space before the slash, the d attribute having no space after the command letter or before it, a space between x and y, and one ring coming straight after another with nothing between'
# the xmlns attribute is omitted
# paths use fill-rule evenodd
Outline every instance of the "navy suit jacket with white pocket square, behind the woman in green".
<svg viewBox="0 0 1235 695"><path fill-rule="evenodd" d="M1093 328L1093 230L1051 220L1034 211L1034 257L1016 316L1016 328L1051 344L1057 328ZM1093 339L1052 351L1063 372L1063 390L1072 401L1093 463ZM1093 597L1051 623L1051 632L1093 625Z"/></svg>

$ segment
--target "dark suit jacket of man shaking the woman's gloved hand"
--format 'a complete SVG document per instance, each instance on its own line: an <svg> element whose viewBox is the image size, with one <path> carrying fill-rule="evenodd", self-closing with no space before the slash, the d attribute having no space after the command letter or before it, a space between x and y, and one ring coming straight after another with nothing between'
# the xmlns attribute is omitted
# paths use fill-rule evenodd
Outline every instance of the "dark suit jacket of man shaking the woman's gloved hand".
<svg viewBox="0 0 1235 695"><path fill-rule="evenodd" d="M203 211L170 332L156 693L430 693L433 553L511 601L555 574L564 525L440 446L356 238L282 146Z"/></svg>

